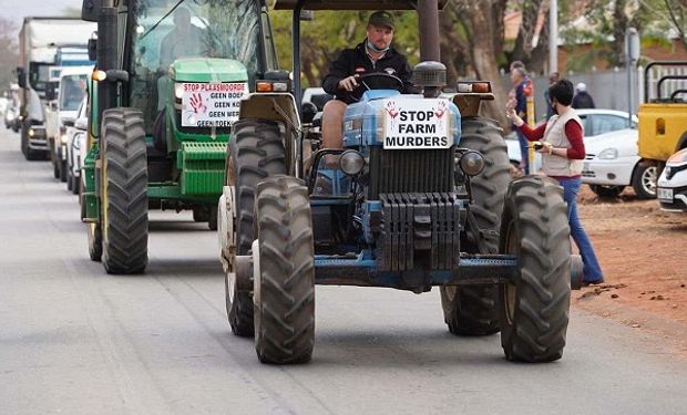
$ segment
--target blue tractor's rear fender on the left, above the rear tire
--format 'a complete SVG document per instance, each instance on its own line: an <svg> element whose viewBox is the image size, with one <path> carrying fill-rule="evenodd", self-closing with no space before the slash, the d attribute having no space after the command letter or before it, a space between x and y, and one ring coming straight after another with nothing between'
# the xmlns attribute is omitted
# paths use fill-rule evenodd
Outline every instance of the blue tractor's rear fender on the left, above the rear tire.
<svg viewBox="0 0 687 415"><path fill-rule="evenodd" d="M239 120L262 118L300 129L296 100L289 93L250 93L240 102Z"/></svg>

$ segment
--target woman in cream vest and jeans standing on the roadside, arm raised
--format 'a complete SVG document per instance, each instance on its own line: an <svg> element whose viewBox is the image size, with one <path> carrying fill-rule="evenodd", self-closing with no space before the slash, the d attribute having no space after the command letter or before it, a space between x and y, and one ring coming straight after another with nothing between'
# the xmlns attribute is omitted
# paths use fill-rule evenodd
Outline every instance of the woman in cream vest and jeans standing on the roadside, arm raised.
<svg viewBox="0 0 687 415"><path fill-rule="evenodd" d="M563 199L567 203L567 220L571 237L582 256L583 284L604 282L604 276L598 264L592 241L582 227L577 216L577 194L582 185L582 166L585 157L582 121L572 108L573 84L567 80L560 80L548 87L548 96L554 115L546 124L536 128L529 126L515 111L516 100L506 104L506 116L522 132L529 141L541 141L542 172L558 181L563 187Z"/></svg>

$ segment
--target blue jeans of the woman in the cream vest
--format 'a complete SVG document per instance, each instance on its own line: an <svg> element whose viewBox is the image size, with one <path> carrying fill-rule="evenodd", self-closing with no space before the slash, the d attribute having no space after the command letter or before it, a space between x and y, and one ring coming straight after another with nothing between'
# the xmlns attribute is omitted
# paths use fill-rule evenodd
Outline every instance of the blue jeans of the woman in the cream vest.
<svg viewBox="0 0 687 415"><path fill-rule="evenodd" d="M580 256L582 257L583 268L583 281L593 282L604 279L601 266L594 253L594 247L592 241L584 231L580 217L577 216L577 194L580 193L580 186L582 185L582 178L571 177L565 179L558 179L561 186L563 186L563 199L567 203L567 221L571 227L571 237L575 241L577 249L580 249Z"/></svg>

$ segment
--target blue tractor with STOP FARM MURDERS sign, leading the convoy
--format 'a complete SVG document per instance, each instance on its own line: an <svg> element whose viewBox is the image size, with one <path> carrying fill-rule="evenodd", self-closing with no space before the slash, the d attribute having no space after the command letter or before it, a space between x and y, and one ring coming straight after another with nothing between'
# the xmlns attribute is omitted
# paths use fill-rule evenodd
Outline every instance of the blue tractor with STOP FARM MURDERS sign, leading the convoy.
<svg viewBox="0 0 687 415"><path fill-rule="evenodd" d="M422 93L401 94L401 81L387 74L359 79L344 148L320 147L305 106L289 115L275 101L271 116L242 114L234 124L221 258L229 324L255 335L260 362L311 359L315 284L439 287L452 333L501 331L509 360L562 356L571 282L580 278L562 189L542 176L511 180L502 129L479 116L480 103L494 98L488 82L442 90L435 22L444 4L276 1L294 10L295 95L301 9L417 7L430 34L413 69Z"/></svg>

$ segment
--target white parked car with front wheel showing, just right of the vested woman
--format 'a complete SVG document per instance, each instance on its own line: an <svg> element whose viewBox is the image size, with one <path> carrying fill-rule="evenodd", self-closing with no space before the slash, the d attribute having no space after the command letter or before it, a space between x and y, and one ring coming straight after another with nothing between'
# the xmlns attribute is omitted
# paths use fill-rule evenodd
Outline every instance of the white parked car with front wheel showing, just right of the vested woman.
<svg viewBox="0 0 687 415"><path fill-rule="evenodd" d="M656 197L657 169L637 155L637 129L624 128L585 137L582 183L602 197L616 197L632 186L640 199Z"/></svg>

